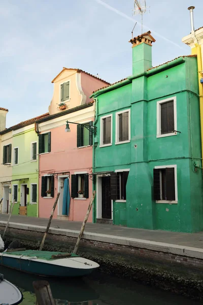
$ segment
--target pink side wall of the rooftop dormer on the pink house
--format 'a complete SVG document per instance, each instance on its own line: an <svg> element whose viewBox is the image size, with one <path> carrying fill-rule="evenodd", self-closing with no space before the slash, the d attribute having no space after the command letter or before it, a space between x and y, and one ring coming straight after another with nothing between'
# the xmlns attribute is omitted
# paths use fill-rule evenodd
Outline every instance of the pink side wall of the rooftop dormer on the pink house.
<svg viewBox="0 0 203 305"><path fill-rule="evenodd" d="M106 87L108 86L108 84L102 80L96 79L95 77L81 72L81 86L84 94L87 97L86 103L89 103L90 101L92 101L92 99L89 98L92 95L92 92L100 88Z"/></svg>

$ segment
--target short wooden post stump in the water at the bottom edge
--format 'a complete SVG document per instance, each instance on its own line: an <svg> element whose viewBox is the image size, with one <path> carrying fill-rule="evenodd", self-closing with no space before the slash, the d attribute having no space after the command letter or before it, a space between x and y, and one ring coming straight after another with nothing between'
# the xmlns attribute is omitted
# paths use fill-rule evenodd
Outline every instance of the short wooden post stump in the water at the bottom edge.
<svg viewBox="0 0 203 305"><path fill-rule="evenodd" d="M35 290L38 305L55 305L51 288L47 281L35 281L32 285Z"/></svg>

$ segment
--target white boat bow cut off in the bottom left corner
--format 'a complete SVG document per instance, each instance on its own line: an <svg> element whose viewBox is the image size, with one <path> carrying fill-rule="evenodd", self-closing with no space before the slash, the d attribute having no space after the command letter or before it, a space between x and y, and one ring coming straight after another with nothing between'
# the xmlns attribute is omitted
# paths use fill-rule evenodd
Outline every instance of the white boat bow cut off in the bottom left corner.
<svg viewBox="0 0 203 305"><path fill-rule="evenodd" d="M23 300L20 290L4 279L4 275L0 274L0 304L1 305L17 305Z"/></svg>

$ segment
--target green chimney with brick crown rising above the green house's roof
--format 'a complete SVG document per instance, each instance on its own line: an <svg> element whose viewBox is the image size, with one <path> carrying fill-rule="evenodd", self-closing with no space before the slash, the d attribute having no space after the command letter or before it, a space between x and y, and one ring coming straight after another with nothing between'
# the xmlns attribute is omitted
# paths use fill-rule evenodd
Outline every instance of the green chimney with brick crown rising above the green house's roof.
<svg viewBox="0 0 203 305"><path fill-rule="evenodd" d="M156 40L151 32L130 39L132 44L132 74L141 74L152 68L152 42Z"/></svg>

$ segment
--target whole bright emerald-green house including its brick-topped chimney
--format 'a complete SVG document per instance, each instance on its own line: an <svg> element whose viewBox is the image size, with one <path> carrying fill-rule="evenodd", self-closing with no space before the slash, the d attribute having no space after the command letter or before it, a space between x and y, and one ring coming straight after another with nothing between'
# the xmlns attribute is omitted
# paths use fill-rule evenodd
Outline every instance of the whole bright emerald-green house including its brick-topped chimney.
<svg viewBox="0 0 203 305"><path fill-rule="evenodd" d="M152 68L150 32L130 40L132 75L94 92L93 221L203 229L196 55Z"/></svg>

